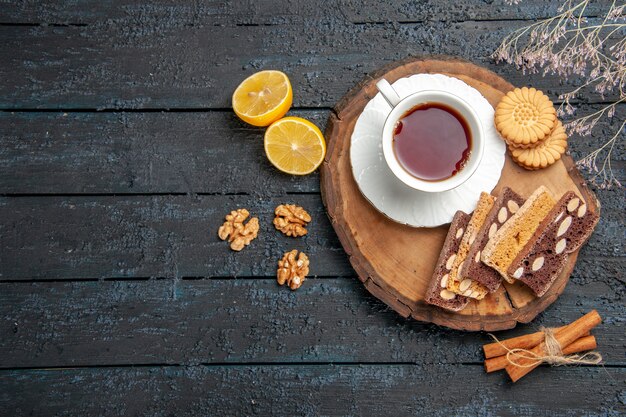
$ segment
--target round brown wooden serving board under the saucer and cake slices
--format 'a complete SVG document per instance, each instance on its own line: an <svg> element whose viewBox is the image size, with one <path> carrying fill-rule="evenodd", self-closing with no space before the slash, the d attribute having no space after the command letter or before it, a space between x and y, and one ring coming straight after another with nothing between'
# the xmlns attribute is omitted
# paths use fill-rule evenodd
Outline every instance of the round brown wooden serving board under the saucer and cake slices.
<svg viewBox="0 0 626 417"><path fill-rule="evenodd" d="M366 77L335 107L326 128L328 150L321 168L322 198L341 244L365 287L404 317L460 330L503 330L527 323L561 294L576 263L573 253L556 282L540 298L521 283L501 286L481 301L472 300L458 313L424 302L424 294L443 246L448 226L412 228L396 223L378 212L359 191L350 166L350 137L357 118L376 93L376 82L389 82L419 73L456 77L476 88L491 103L500 101L513 86L493 72L449 57L424 57L392 64ZM504 186L528 197L545 185L555 196L572 190L600 210L572 158L551 167L527 171L506 156L502 176L492 194Z"/></svg>

